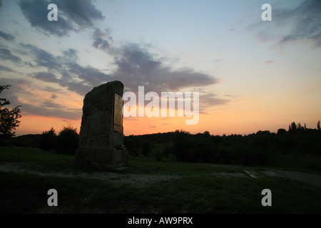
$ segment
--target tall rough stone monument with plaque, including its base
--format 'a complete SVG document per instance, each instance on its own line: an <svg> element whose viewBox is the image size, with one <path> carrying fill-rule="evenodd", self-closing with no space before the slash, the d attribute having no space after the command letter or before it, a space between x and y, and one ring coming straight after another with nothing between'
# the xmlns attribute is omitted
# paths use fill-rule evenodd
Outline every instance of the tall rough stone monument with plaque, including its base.
<svg viewBox="0 0 321 228"><path fill-rule="evenodd" d="M123 146L123 83L111 81L93 88L83 99L78 165L124 167L128 152Z"/></svg>

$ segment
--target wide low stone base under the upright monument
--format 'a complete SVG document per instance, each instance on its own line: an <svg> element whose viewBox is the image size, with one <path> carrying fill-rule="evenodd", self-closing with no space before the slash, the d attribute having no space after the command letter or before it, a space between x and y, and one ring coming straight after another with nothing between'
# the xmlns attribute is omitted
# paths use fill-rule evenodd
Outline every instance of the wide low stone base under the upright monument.
<svg viewBox="0 0 321 228"><path fill-rule="evenodd" d="M126 167L128 152L126 150L106 150L78 148L76 162L81 166L90 167Z"/></svg>

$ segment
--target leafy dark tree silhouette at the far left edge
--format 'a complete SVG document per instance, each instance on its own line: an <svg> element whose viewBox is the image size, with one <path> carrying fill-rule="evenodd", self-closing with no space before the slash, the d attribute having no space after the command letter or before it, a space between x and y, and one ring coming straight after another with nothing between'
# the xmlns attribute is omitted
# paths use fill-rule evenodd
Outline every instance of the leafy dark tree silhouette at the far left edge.
<svg viewBox="0 0 321 228"><path fill-rule="evenodd" d="M11 85L0 86L0 93L5 89L9 90L10 86ZM11 110L9 110L9 108L3 108L4 105L9 104L9 100L6 100L6 98L0 98L0 138L14 136L15 132L13 130L16 130L16 127L19 127L20 121L18 119L21 118L21 115L19 114L21 113L21 110L19 107L21 107L21 105L18 105Z"/></svg>

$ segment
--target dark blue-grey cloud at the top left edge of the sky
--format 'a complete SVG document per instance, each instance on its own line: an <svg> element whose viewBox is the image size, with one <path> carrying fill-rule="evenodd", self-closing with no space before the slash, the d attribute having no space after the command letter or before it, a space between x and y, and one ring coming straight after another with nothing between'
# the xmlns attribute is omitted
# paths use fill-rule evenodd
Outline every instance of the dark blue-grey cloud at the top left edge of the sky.
<svg viewBox="0 0 321 228"><path fill-rule="evenodd" d="M47 19L49 4L57 5L58 21ZM68 36L71 31L94 26L95 21L104 19L101 11L88 0L21 0L19 6L31 26L46 35Z"/></svg>

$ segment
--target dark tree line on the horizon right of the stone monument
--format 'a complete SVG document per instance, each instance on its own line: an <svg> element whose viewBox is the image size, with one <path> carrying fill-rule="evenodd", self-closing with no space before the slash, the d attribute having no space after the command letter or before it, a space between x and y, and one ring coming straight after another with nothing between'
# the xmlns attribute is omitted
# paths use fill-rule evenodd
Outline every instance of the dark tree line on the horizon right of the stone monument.
<svg viewBox="0 0 321 228"><path fill-rule="evenodd" d="M317 129L291 123L277 133L258 131L250 135L210 135L208 131L190 134L183 130L124 138L132 155L148 156L155 145L163 145L163 157L175 156L178 162L210 162L239 165L269 165L280 155L321 156L320 121ZM159 151L158 151L158 156ZM157 157L156 157L157 158Z"/></svg>

